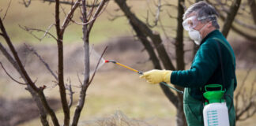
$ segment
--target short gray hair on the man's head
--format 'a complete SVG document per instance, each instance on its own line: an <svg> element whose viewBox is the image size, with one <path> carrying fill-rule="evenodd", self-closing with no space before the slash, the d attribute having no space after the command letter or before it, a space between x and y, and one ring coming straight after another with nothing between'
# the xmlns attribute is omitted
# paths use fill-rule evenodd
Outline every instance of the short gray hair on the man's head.
<svg viewBox="0 0 256 126"><path fill-rule="evenodd" d="M214 9L214 7L211 6L209 3L194 3L188 9L186 9L186 12L183 15L183 20L185 20L190 13L195 13L198 20L202 23L212 21L213 27L215 27L216 29L220 28L220 25L218 24L216 19L217 17L219 17L219 13L217 13L216 9Z"/></svg>

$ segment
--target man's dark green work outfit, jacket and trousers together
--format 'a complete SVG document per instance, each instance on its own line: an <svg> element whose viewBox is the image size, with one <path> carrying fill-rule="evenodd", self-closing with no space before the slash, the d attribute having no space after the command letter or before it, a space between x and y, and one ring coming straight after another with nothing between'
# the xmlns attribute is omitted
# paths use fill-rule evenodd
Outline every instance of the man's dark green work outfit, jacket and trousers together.
<svg viewBox="0 0 256 126"><path fill-rule="evenodd" d="M219 42L220 46L218 46L217 42ZM220 52L224 80L221 72ZM188 125L203 125L202 109L204 100L201 91L202 87L207 84L218 83L223 85L224 83L227 94L232 96L232 98L227 99L227 106L228 109L232 109L232 112L229 113L230 121L232 121L231 125L235 125L233 123L235 121L235 109L232 104L233 91L236 87L235 54L219 30L210 32L201 41L189 70L173 71L171 73L171 83L185 87L183 104ZM189 115L188 111L194 114L198 122L193 124L195 119Z"/></svg>

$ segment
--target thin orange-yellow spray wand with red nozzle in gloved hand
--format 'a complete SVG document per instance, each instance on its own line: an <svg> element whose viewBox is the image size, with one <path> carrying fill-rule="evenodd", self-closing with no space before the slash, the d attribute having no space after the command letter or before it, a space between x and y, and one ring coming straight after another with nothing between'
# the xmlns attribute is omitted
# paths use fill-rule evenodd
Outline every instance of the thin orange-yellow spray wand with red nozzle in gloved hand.
<svg viewBox="0 0 256 126"><path fill-rule="evenodd" d="M105 61L105 63L108 63L108 62L114 63L115 65L120 65L120 66L122 66L122 67L124 67L124 68L126 68L126 69L130 69L131 71L137 72L139 75L143 75L143 72L138 71L138 70L136 70L136 69L132 69L132 68L130 68L130 67L127 66L127 65L122 65L122 64L120 64L120 63L117 62L117 61L114 61L114 60L106 60L106 61ZM173 90L175 90L175 91L177 91L177 92L179 92L179 93L181 93L181 94L183 94L183 91L180 91L179 89L177 89L177 88L175 88L175 87L171 87L170 85L168 85L168 83L165 83L165 82L160 82L160 83L161 83L161 84L164 84L165 86L167 86L167 87L169 87L169 88L171 88L171 89L173 89Z"/></svg>

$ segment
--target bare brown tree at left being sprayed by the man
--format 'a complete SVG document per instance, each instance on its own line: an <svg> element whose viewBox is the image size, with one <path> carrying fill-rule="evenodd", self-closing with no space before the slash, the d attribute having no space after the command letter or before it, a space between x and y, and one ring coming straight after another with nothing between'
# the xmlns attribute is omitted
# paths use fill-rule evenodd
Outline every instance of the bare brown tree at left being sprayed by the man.
<svg viewBox="0 0 256 126"><path fill-rule="evenodd" d="M72 20L73 13L77 9L77 7L82 6L82 9L81 9L82 10L82 17L81 17L82 23L81 24L83 25L83 41L84 41L84 47L85 47L85 72L84 72L85 76L84 76L84 82L81 83L82 86L81 86L79 101L77 103L77 108L76 108L76 111L73 116L72 125L77 125L81 110L83 109L83 106L85 105L84 103L85 103L86 91L87 91L90 83L92 83L93 76L96 73L96 70L95 70L91 80L89 80L89 70L88 70L88 68L89 68L89 58L88 58L89 57L88 56L89 33L92 29L94 22L96 21L96 18L99 17L100 13L102 13L104 11L104 7L107 5L108 0L101 0L99 3L96 3L97 1L94 0L92 6L90 6L89 8L87 8L88 5L85 4L86 0L82 0L82 3L81 3L81 0L72 2L70 12L66 14L66 18L63 20L62 24L60 24L60 17L59 17L59 14L60 14L59 9L60 9L61 2L59 0L44 1L44 2L55 2L55 24L54 25L55 25L57 37L55 37L54 35L52 35L49 32L49 29L51 27L49 27L46 31L44 31L45 32L44 36L51 35L57 42L57 45L58 45L58 77L55 76L55 74L51 71L51 69L49 68L49 66L47 65L46 62L43 62L43 63L47 67L47 69L51 72L51 75L55 76L55 79L57 80L58 87L59 87L59 94L60 94L60 98L61 98L61 102L62 102L62 109L64 112L63 113L64 114L63 124L66 126L70 125L70 106L72 105L73 91L72 91L71 87L66 86L64 83L63 37L64 37L64 32L65 32L67 26L70 24L71 21L74 22ZM30 0L28 2L23 1L23 3L24 3L24 6L28 7L30 5L31 1ZM8 7L8 9L9 9L9 7ZM7 13L7 11L6 11L6 13ZM8 72L6 71L6 69L4 68L2 63L0 62L2 69L5 70L6 74L9 75L9 77L11 77L12 80L16 81L17 83L25 84L28 86L28 88L27 88L28 91L30 92L30 94L32 95L32 98L36 102L36 105L40 109L40 119L41 119L42 124L44 126L49 125L48 120L47 120L47 114L49 114L51 116L51 120L52 120L53 124L58 126L58 125L60 125L58 122L58 118L56 117L53 109L51 109L51 107L49 106L47 99L43 93L43 90L46 88L46 86L43 85L43 87L37 87L36 81L32 81L31 77L28 75L28 72L24 69L24 65L22 65L22 63L21 63L21 59L18 56L17 51L15 50L15 47L13 46L13 42L11 41L8 33L6 32L6 28L3 24L3 19L6 17L6 13L4 14L3 18L0 18L0 29L1 29L0 35L6 40L6 43L9 46L9 50L11 50L13 57L11 56L11 54L8 53L8 51L2 45L2 43L0 43L0 49L2 51L2 54L4 54L4 56L13 65L13 67L15 69L17 69L17 72L20 73L21 77L24 80L24 83L14 80L13 77L8 74ZM43 31L41 29L26 28L26 27L24 27L23 29L26 31ZM42 37L41 39L43 39L43 38L44 37ZM104 50L104 52L105 52L105 50ZM43 59L40 57L39 54L36 53L35 50L33 50L33 52L40 58L41 61L43 61ZM103 52L103 54L104 54L104 52ZM102 54L102 56L103 56L103 54ZM99 62L100 62L100 60L99 60ZM70 82L70 84L71 84L71 82ZM70 91L70 103L67 102L66 89L68 89Z"/></svg>

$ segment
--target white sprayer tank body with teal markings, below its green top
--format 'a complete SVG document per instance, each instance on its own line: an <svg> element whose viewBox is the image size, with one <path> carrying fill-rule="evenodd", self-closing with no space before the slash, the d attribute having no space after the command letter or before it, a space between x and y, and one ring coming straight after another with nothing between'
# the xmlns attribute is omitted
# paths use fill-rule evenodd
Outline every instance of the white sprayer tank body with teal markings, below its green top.
<svg viewBox="0 0 256 126"><path fill-rule="evenodd" d="M228 107L226 102L206 105L203 109L205 126L229 126Z"/></svg>

